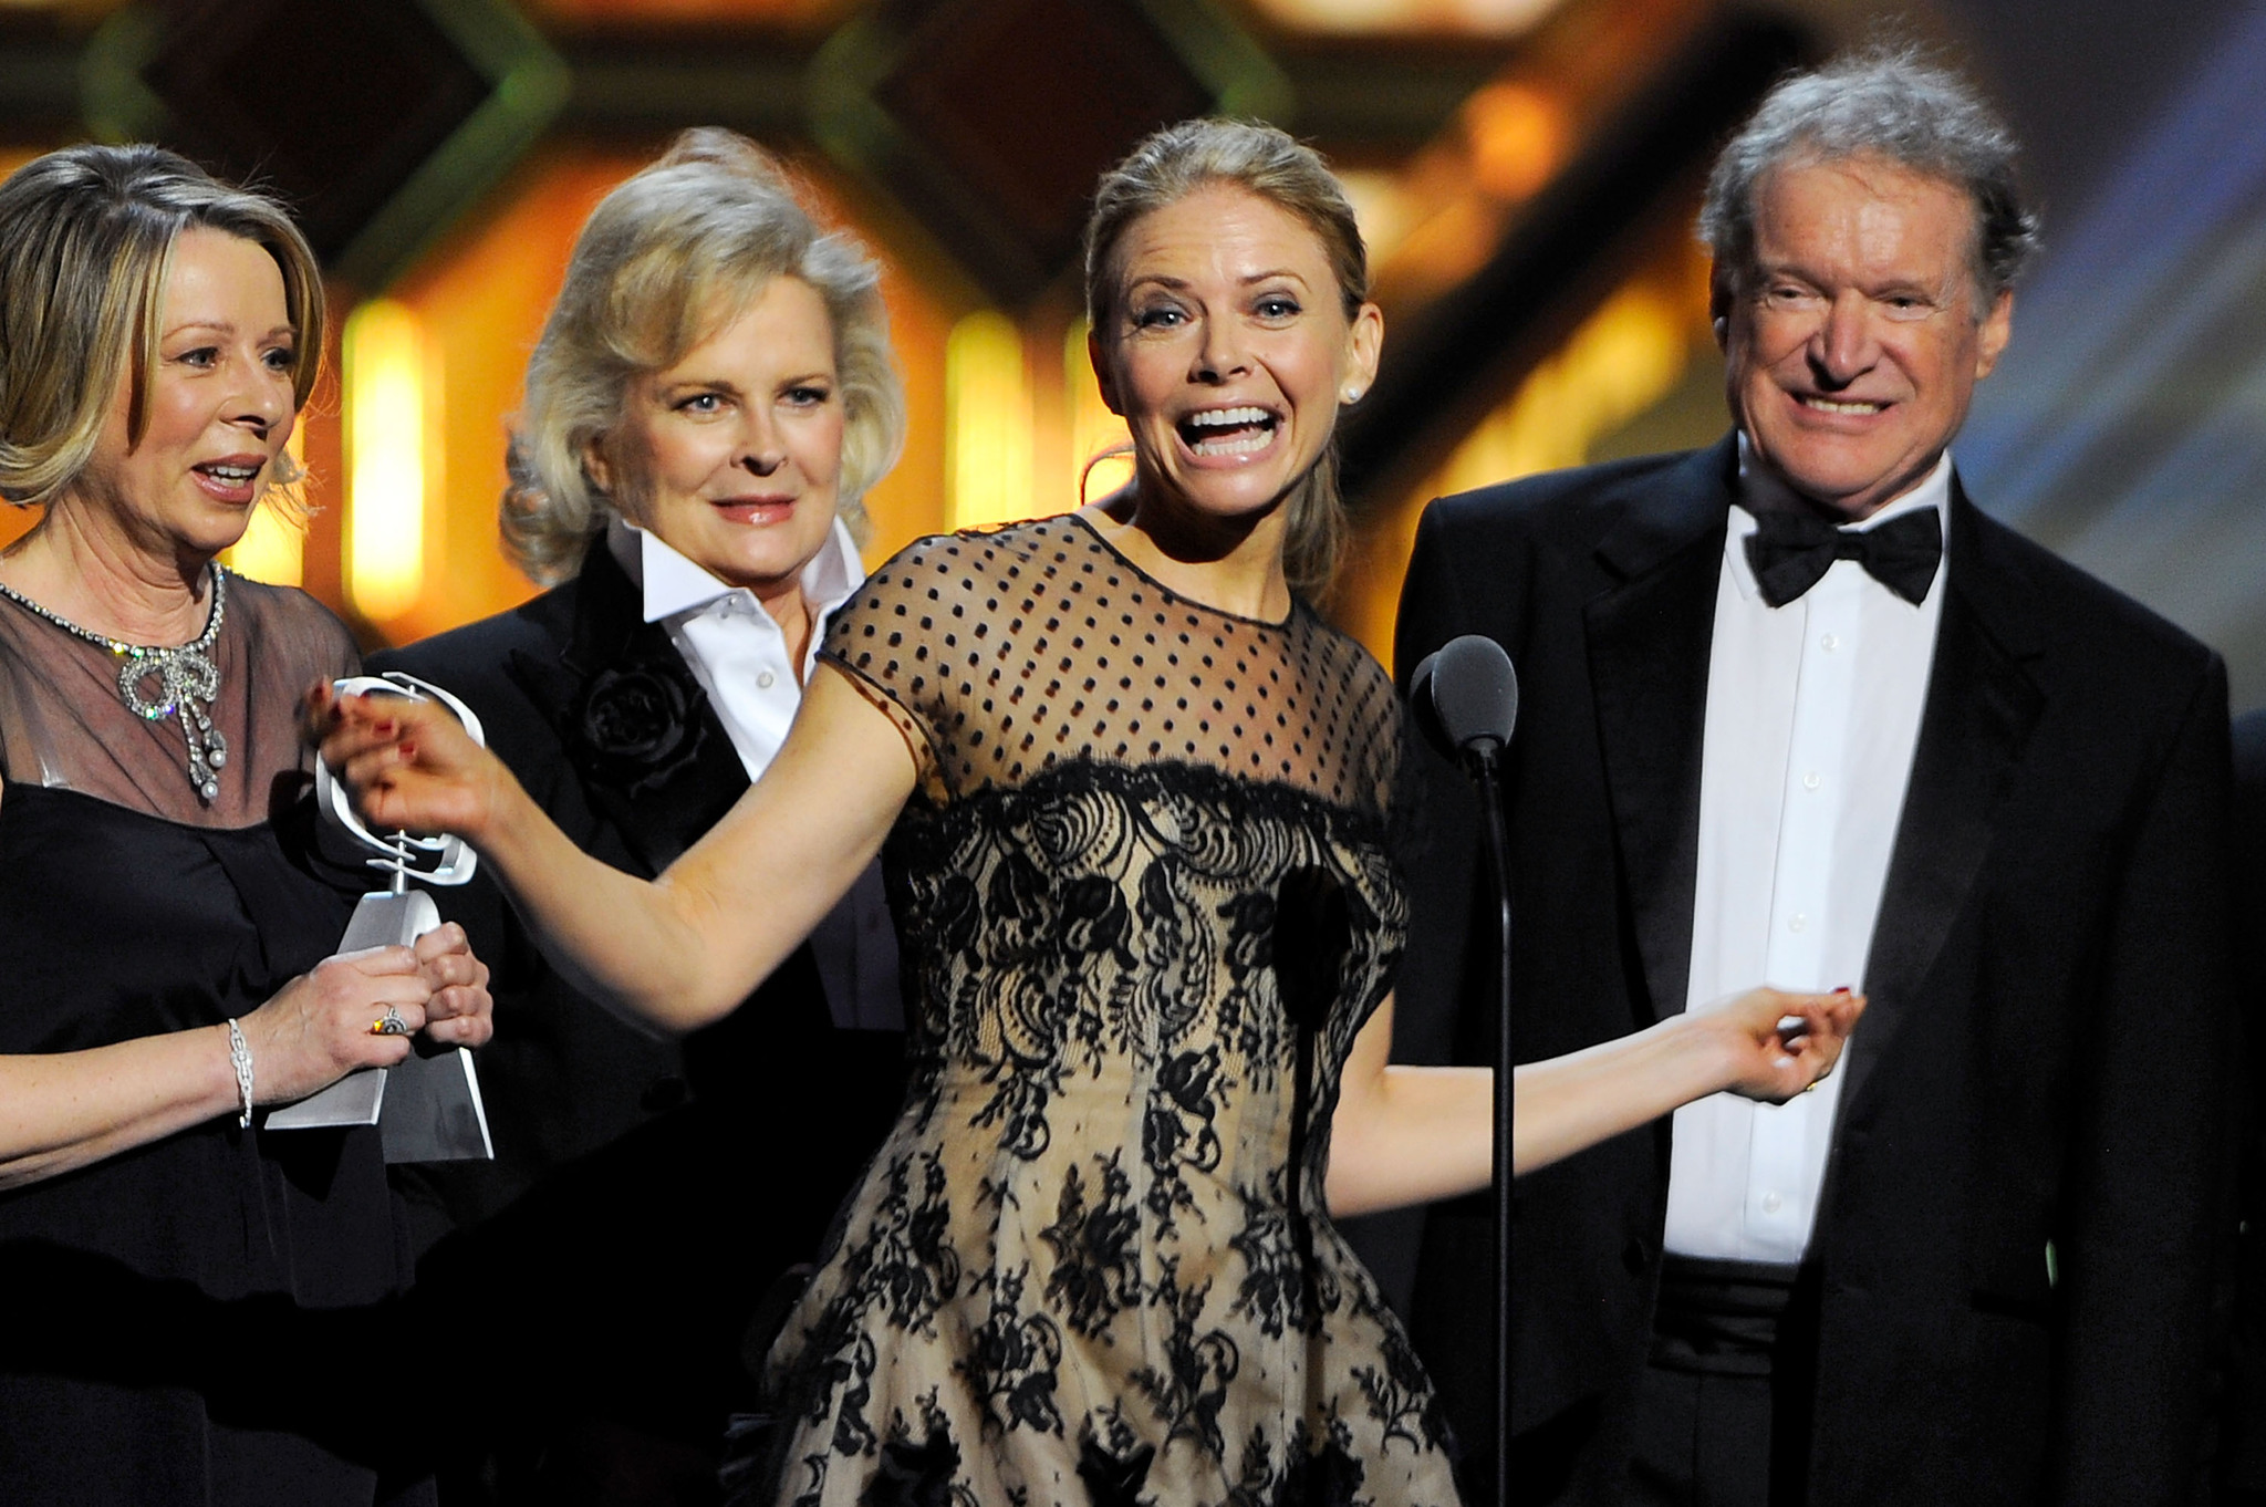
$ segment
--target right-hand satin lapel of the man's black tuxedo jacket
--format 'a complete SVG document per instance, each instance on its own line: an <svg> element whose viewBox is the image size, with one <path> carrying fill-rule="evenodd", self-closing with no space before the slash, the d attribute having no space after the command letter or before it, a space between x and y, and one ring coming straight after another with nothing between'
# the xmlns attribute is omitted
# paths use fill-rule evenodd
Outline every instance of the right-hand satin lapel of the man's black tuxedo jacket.
<svg viewBox="0 0 2266 1507"><path fill-rule="evenodd" d="M1865 961L1865 1027L1849 1054L1854 1106L1913 1018L1928 968L1990 852L1999 807L2021 764L2044 693L2024 671L2042 653L2030 582L1999 546L2001 526L1951 485L1944 616L1897 820L1881 913Z"/></svg>

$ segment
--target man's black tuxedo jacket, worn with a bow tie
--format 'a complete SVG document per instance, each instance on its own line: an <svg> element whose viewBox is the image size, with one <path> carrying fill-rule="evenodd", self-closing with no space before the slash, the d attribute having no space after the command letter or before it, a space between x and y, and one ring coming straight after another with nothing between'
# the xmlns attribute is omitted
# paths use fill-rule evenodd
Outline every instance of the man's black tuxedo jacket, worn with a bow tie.
<svg viewBox="0 0 2266 1507"><path fill-rule="evenodd" d="M1684 1006L1731 440L1430 505L1403 682L1511 655L1514 1049ZM1953 483L1940 637L1808 1249L1808 1502L2169 1502L2198 1480L2223 1233L2227 712L2216 655ZM1493 1061L1477 802L1419 757L1400 1031ZM1756 979L1763 984L1763 979ZM1613 1502L1656 1294L1672 1122L1516 1187L1514 1473ZM1484 1212L1425 1228L1414 1330L1473 1446Z"/></svg>

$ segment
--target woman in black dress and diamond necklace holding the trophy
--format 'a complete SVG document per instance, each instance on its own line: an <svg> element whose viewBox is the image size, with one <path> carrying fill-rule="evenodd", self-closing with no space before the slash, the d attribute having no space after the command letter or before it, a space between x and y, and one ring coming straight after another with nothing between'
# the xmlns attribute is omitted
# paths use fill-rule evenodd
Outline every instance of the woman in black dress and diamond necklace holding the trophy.
<svg viewBox="0 0 2266 1507"><path fill-rule="evenodd" d="M0 555L7 1502L428 1500L369 1353L324 1366L408 1276L378 1133L258 1122L489 1033L453 927L329 956L363 879L317 875L295 716L353 644L215 564L320 349L276 204L156 147L0 186L0 496L43 510Z"/></svg>

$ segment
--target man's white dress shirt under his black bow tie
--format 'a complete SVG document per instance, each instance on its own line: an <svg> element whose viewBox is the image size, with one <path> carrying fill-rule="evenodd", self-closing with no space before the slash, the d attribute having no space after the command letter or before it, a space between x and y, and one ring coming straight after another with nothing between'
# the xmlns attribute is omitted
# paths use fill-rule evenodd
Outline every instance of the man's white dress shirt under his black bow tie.
<svg viewBox="0 0 2266 1507"><path fill-rule="evenodd" d="M1946 453L1863 528L1922 508L1949 523L1949 501ZM1801 598L1767 605L1747 535L1756 512L1774 508L1801 501L1749 465L1740 437L1709 655L1688 1011L1720 1008L1756 984L1865 988L1942 621L1949 557L1917 607L1854 560L1835 560ZM1858 1031L1849 1052L1863 1049ZM1713 1095L1677 1110L1670 1251L1801 1260L1847 1063L1783 1106Z"/></svg>

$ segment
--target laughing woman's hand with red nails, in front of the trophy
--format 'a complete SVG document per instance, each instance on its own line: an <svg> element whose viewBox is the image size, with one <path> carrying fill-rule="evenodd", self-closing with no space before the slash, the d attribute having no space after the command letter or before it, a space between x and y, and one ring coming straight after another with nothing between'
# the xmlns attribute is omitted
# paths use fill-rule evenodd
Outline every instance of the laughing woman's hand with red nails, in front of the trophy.
<svg viewBox="0 0 2266 1507"><path fill-rule="evenodd" d="M306 737L374 832L449 832L478 848L510 775L455 716L408 696L306 696Z"/></svg>

